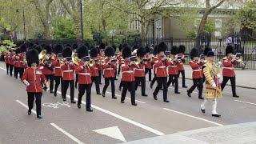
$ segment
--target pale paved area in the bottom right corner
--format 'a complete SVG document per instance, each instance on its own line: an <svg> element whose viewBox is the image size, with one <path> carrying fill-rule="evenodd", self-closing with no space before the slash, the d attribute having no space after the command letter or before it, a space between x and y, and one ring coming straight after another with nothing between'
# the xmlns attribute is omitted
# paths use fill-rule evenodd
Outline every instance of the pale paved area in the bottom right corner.
<svg viewBox="0 0 256 144"><path fill-rule="evenodd" d="M208 143L256 143L256 122L248 122L229 126L190 130L176 134L167 134L154 138L146 138L126 144L208 144Z"/></svg>

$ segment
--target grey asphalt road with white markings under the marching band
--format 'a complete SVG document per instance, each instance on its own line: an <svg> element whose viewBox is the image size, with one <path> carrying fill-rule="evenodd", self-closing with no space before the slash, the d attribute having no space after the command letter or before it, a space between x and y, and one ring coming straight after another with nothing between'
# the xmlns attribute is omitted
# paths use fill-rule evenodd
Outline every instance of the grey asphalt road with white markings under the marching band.
<svg viewBox="0 0 256 144"><path fill-rule="evenodd" d="M60 92L57 97L44 92L43 118L38 119L35 114L27 115L25 86L7 76L4 69L4 63L0 62L0 143L120 143L256 120L255 90L237 88L240 98L233 98L230 86L226 86L224 98L218 99L218 113L222 118L213 118L210 102L206 114L201 113L202 100L198 99L196 91L192 98L188 98L186 89L180 88L182 94L174 94L170 87L170 103L165 103L162 102L161 90L158 101L154 100L154 89L150 89L149 82L146 82L148 97L141 96L140 87L136 91L138 106L131 106L128 98L125 104L121 104L119 80L115 82L117 100L111 99L110 86L106 98L96 95L92 87L93 113L86 112L85 102L82 109L78 109L76 104L70 103L69 96L63 104ZM186 80L187 86L191 84L192 81ZM75 97L78 98L78 90L75 90Z"/></svg>

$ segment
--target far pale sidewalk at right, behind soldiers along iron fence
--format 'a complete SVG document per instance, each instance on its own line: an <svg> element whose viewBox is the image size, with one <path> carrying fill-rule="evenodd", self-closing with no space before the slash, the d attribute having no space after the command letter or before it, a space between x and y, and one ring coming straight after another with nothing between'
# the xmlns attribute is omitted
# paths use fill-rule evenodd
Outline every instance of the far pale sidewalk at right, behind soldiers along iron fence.
<svg viewBox="0 0 256 144"><path fill-rule="evenodd" d="M189 65L184 65L184 67L186 78L191 79L192 69L190 68ZM238 87L256 89L256 70L235 69L234 71L236 74L236 85ZM182 76L180 75L180 78L181 77ZM230 81L227 82L227 85L230 85Z"/></svg>

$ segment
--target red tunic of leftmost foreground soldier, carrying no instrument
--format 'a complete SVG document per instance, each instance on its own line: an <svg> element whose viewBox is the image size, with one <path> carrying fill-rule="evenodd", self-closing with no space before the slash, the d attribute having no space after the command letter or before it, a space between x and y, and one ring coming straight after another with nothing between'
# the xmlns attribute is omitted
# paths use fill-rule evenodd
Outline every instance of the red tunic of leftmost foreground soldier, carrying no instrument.
<svg viewBox="0 0 256 144"><path fill-rule="evenodd" d="M22 81L26 80L30 86L26 86L26 91L30 93L42 93L42 83L46 82L46 77L39 68L26 68Z"/></svg>

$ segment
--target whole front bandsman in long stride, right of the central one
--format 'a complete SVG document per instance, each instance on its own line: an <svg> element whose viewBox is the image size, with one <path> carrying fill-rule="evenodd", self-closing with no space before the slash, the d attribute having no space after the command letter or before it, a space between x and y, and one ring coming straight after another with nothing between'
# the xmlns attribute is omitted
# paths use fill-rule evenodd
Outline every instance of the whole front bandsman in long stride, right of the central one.
<svg viewBox="0 0 256 144"><path fill-rule="evenodd" d="M163 87L163 101L169 102L167 98L168 86L167 86L167 70L168 66L167 58L165 56L165 51L167 50L167 45L165 42L160 42L158 45L158 61L154 63L155 74L158 82L158 86L155 88L153 96L155 100L158 100L158 92Z"/></svg>

